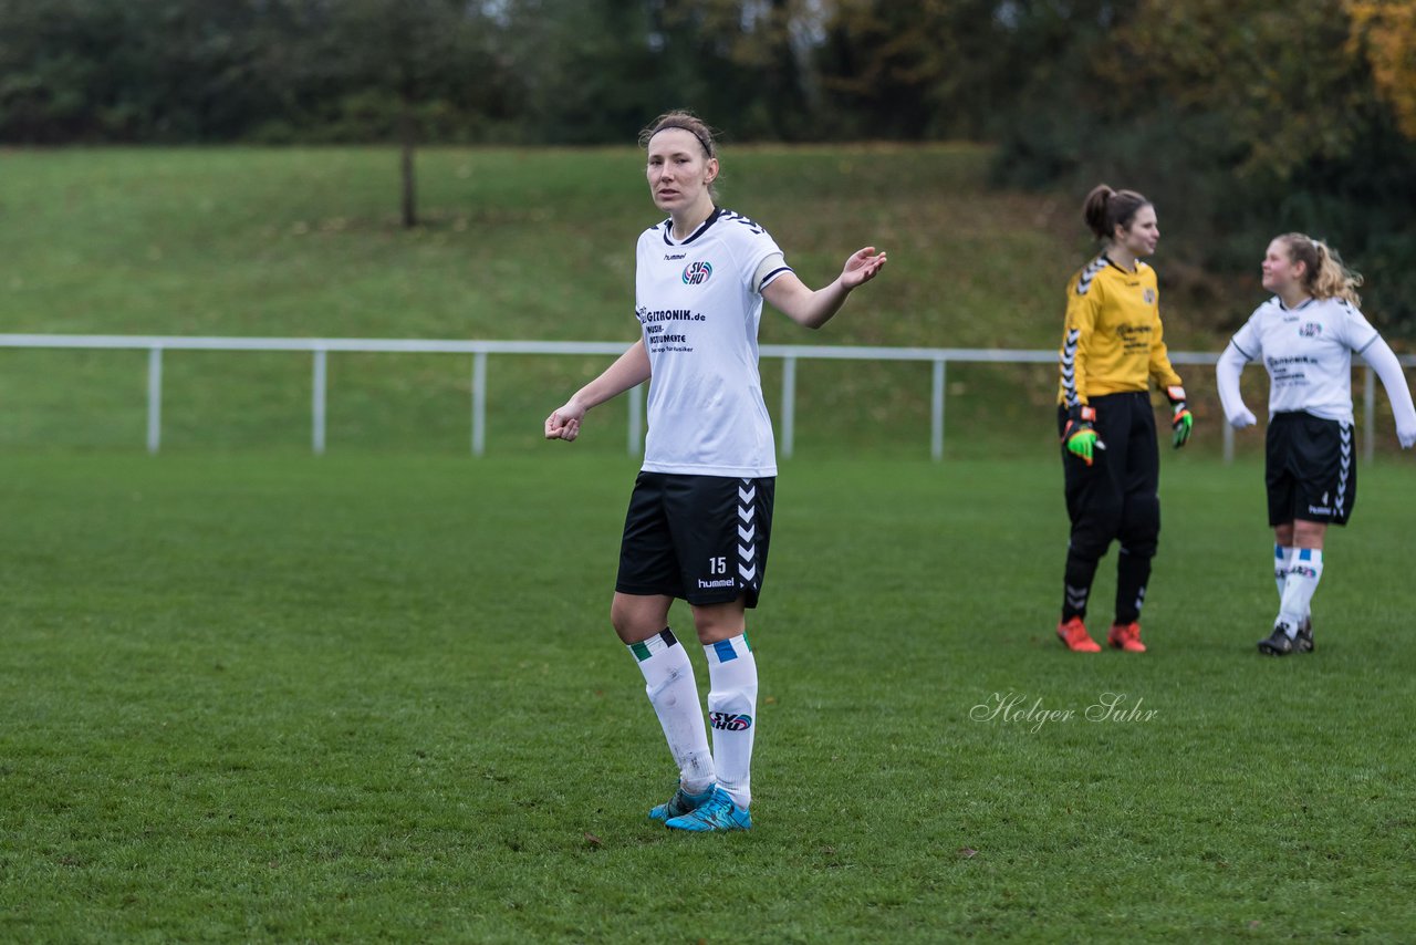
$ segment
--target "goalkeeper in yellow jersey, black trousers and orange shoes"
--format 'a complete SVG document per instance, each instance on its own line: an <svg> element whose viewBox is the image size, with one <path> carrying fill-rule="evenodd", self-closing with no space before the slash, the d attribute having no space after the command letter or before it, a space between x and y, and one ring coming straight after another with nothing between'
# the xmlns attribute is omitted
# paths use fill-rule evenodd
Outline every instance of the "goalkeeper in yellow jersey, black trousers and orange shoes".
<svg viewBox="0 0 1416 945"><path fill-rule="evenodd" d="M1107 643L1144 653L1140 615L1160 536L1160 452L1150 380L1172 405L1172 443L1189 439L1185 388L1161 340L1155 271L1141 262L1155 252L1155 208L1131 190L1102 184L1083 205L1102 255L1066 288L1066 326L1059 366L1058 434L1072 534L1058 636L1068 649L1096 653L1086 632L1086 605L1097 561L1120 543L1116 619Z"/></svg>

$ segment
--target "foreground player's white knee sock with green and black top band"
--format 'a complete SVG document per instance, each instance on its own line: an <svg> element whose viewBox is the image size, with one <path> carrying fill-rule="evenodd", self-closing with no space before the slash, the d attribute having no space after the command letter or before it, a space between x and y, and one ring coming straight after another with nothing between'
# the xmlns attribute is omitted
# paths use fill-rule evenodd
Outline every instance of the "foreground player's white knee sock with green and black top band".
<svg viewBox="0 0 1416 945"><path fill-rule="evenodd" d="M688 652L667 626L643 643L630 643L629 652L644 674L644 693L678 765L680 786L688 793L702 793L712 786L715 775Z"/></svg>

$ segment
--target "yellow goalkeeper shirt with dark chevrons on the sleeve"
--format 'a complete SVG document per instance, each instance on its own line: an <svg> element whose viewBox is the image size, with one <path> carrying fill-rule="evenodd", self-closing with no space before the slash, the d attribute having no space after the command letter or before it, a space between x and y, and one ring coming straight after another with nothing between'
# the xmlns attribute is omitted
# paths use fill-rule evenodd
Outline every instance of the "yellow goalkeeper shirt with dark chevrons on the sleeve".
<svg viewBox="0 0 1416 945"><path fill-rule="evenodd" d="M1127 272L1104 255L1066 285L1066 324L1058 356L1058 402L1087 404L1092 397L1178 385L1161 339L1155 271L1136 262Z"/></svg>

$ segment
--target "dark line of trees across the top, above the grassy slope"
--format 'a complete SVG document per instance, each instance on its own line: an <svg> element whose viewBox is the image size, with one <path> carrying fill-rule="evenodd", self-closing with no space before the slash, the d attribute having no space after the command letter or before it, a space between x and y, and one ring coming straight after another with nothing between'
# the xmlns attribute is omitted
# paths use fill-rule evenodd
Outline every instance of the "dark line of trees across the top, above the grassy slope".
<svg viewBox="0 0 1416 945"><path fill-rule="evenodd" d="M971 139L1197 266L1328 238L1416 329L1416 0L0 0L0 142ZM411 193L409 193L411 203ZM411 210L411 207L405 208Z"/></svg>

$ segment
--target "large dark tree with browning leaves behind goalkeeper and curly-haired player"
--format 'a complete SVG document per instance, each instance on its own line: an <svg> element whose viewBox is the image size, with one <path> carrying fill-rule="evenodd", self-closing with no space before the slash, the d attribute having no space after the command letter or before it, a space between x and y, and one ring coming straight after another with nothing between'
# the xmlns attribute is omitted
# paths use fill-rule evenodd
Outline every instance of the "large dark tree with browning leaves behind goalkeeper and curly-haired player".
<svg viewBox="0 0 1416 945"><path fill-rule="evenodd" d="M1349 41L1352 23L1344 0L1141 0L1070 82L1031 85L1025 108L1041 116L1005 136L1000 176L1141 190L1165 221L1168 258L1211 272L1252 273L1276 232L1327 238L1366 272L1364 296L1383 317L1416 329L1416 276L1402 262L1416 258L1405 218L1416 147Z"/></svg>

